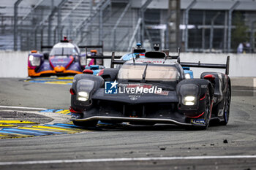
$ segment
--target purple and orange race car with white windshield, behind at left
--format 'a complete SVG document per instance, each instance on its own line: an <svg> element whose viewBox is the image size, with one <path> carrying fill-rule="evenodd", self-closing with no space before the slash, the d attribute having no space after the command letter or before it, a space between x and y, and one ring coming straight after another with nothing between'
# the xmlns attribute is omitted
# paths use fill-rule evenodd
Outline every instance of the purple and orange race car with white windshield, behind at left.
<svg viewBox="0 0 256 170"><path fill-rule="evenodd" d="M97 55L97 50L87 53L87 48L102 48L102 46L80 46L86 48L87 55ZM42 46L50 48L50 46ZM32 50L28 58L29 77L39 77L48 75L80 74L86 69L103 69L104 66L95 65L97 60L86 60L86 54L81 54L77 45L70 43L67 37L53 46L49 53L37 53ZM101 55L100 55L101 56ZM98 60L99 61L99 60ZM94 65L94 66L92 66ZM103 65L103 63L102 63Z"/></svg>

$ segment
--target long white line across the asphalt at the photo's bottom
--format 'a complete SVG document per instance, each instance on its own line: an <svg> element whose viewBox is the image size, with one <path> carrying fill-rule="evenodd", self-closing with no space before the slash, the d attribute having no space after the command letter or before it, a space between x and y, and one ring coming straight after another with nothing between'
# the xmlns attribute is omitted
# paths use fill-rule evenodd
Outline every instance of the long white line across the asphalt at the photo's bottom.
<svg viewBox="0 0 256 170"><path fill-rule="evenodd" d="M77 160L50 160L50 161L17 161L0 162L0 166L29 165L50 163L94 163L94 162L121 162L121 161L176 161L176 160L203 160L203 159L234 159L256 158L256 155L219 155L219 156L185 156L185 157L155 157L155 158L100 158L100 159L77 159Z"/></svg>

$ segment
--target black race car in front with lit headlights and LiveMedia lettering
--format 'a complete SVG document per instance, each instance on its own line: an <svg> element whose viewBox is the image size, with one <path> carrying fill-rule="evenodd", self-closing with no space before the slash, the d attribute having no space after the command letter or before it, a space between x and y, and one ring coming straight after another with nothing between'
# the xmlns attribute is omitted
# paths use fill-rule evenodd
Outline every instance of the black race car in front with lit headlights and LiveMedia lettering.
<svg viewBox="0 0 256 170"><path fill-rule="evenodd" d="M226 64L180 63L162 52L146 52L101 76L78 74L70 89L75 125L102 122L130 124L170 123L206 129L211 119L226 125L230 112L230 78ZM185 79L182 66L226 69L226 74L203 72Z"/></svg>

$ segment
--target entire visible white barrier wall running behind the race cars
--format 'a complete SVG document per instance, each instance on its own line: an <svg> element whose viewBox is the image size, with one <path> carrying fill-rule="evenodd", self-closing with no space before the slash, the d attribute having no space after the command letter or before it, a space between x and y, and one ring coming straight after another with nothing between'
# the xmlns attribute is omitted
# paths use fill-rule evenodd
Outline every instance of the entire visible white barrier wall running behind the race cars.
<svg viewBox="0 0 256 170"><path fill-rule="evenodd" d="M0 51L0 77L27 77L29 52ZM116 53L124 55L126 53ZM110 55L106 52L105 55ZM256 77L256 54L228 54L230 55L230 77ZM226 63L227 54L211 53L181 53L181 62ZM105 59L105 66L110 67L110 60ZM195 77L201 72L217 71L218 69L191 68Z"/></svg>

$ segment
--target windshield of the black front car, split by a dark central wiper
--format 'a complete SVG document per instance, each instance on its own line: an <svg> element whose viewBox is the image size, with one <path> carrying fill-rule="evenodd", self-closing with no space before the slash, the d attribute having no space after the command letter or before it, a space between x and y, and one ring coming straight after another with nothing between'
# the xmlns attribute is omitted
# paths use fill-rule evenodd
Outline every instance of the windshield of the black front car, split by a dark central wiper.
<svg viewBox="0 0 256 170"><path fill-rule="evenodd" d="M146 70L146 81L173 82L178 78L178 70L175 66L148 64L125 64L118 72L119 80L143 80Z"/></svg>

